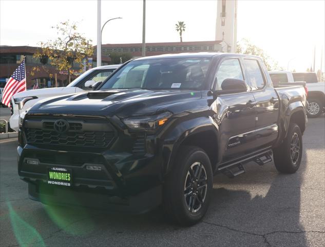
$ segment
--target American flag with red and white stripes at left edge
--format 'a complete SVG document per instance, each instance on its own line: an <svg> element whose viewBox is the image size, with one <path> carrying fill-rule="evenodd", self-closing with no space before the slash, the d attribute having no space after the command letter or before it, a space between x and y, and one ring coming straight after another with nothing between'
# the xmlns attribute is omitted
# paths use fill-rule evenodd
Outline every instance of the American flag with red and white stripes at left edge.
<svg viewBox="0 0 325 247"><path fill-rule="evenodd" d="M11 97L23 91L26 91L25 59L23 59L21 65L16 68L6 83L2 96L2 103L9 107Z"/></svg>

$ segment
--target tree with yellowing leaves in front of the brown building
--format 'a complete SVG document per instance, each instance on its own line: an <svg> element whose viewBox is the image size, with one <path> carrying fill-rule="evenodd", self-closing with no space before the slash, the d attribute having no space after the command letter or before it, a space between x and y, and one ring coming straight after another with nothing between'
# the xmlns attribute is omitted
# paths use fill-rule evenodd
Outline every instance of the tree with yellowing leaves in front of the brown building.
<svg viewBox="0 0 325 247"><path fill-rule="evenodd" d="M49 61L56 69L67 70L67 81L70 83L70 75L73 73L73 62L79 64L80 69L78 72L82 72L82 60L92 56L93 48L91 45L88 45L88 40L77 31L75 23L71 24L69 21L61 22L59 25L51 28L56 29L58 38L47 42L40 42L41 49L37 50L33 56L34 58L39 58L42 64ZM32 69L32 71L35 70L39 70L39 68L34 67Z"/></svg>

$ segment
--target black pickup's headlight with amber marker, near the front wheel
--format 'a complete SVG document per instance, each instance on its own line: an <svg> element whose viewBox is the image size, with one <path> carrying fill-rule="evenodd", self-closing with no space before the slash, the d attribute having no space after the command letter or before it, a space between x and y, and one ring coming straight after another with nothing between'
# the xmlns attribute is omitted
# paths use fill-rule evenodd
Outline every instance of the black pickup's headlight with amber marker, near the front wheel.
<svg viewBox="0 0 325 247"><path fill-rule="evenodd" d="M159 115L129 117L123 119L123 122L133 130L154 130L159 126L163 126L171 115L170 112L164 112Z"/></svg>

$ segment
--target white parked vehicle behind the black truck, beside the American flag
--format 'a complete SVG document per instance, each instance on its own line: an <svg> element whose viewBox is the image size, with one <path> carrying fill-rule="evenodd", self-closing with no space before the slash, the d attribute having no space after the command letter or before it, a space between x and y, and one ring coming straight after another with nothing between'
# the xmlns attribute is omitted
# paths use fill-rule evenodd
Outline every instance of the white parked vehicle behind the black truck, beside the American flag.
<svg viewBox="0 0 325 247"><path fill-rule="evenodd" d="M105 65L87 70L77 79L73 80L66 87L50 87L48 89L28 90L15 94L11 98L11 129L18 131L19 116L26 109L30 108L34 103L41 99L47 99L53 96L65 94L80 93L92 90L94 83L104 81L115 69L120 65Z"/></svg>

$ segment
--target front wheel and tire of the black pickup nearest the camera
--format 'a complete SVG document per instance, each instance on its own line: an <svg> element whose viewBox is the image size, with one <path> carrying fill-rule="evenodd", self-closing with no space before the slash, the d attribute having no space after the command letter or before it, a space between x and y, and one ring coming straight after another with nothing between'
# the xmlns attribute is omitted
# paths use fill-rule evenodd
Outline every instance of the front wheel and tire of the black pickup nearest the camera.
<svg viewBox="0 0 325 247"><path fill-rule="evenodd" d="M194 177L200 179L192 183ZM181 147L164 185L163 210L166 217L180 225L199 222L211 200L212 185L212 166L204 150ZM191 192L192 189L195 192Z"/></svg>

